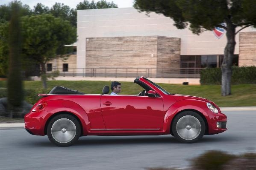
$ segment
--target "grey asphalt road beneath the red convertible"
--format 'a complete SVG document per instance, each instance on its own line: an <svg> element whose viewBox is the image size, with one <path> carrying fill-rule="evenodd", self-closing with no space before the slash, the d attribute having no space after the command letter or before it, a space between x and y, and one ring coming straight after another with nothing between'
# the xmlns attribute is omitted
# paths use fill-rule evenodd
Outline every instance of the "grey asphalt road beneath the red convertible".
<svg viewBox="0 0 256 170"><path fill-rule="evenodd" d="M47 136L24 129L0 130L1 170L145 170L188 167L206 150L256 153L256 111L226 111L224 133L204 136L194 144L171 135L85 136L71 147L56 147Z"/></svg>

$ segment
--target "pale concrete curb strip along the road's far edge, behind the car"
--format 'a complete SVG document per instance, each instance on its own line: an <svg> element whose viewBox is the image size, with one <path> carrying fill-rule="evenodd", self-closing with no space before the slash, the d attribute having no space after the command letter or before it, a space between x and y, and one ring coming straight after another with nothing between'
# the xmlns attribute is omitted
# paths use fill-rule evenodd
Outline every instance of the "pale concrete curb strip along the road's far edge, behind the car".
<svg viewBox="0 0 256 170"><path fill-rule="evenodd" d="M221 107L221 111L256 111L256 107ZM0 123L0 130L4 129L24 129L24 123Z"/></svg>

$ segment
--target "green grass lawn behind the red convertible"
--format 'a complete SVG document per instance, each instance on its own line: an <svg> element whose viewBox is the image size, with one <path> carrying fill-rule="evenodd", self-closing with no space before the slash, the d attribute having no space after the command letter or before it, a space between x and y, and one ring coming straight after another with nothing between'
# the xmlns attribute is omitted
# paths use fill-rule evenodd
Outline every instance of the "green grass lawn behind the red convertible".
<svg viewBox="0 0 256 170"><path fill-rule="evenodd" d="M121 82L122 90L120 94L136 95L142 90L140 86L133 82ZM26 100L33 104L37 98L37 93L49 92L54 86L66 86L71 89L85 92L87 94L100 94L104 85L110 86L109 81L47 81L48 89L42 89L41 81L24 81L24 88L30 96ZM164 89L173 94L194 95L207 98L220 107L241 107L256 106L256 84L232 85L232 95L222 97L220 85L174 85L160 84ZM6 88L6 81L0 81L0 89ZM0 91L2 92L2 91Z"/></svg>

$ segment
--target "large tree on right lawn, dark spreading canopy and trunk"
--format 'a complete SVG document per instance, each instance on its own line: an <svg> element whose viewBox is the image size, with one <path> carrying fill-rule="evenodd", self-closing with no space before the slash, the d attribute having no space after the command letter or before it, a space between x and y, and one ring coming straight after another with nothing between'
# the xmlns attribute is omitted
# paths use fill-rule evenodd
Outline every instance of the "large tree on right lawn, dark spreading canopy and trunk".
<svg viewBox="0 0 256 170"><path fill-rule="evenodd" d="M134 7L140 12L156 12L171 17L178 29L189 25L197 35L215 27L225 29L227 45L221 66L221 94L231 95L235 35L244 28L256 26L255 0L135 0Z"/></svg>

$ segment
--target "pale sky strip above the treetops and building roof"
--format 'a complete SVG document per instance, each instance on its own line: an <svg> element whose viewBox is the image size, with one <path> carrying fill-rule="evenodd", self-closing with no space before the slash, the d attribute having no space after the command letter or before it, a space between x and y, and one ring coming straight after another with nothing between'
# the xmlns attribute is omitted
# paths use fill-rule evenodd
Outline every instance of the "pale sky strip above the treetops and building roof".
<svg viewBox="0 0 256 170"><path fill-rule="evenodd" d="M0 0L0 5L8 5L12 0ZM42 3L45 6L48 6L51 8L53 4L57 3L64 3L65 5L69 6L71 9L76 8L77 4L79 2L82 2L83 0L20 0L23 5L27 4L30 6L31 9L34 9L34 6L37 3ZM91 0L89 0L91 2ZM94 2L97 2L99 0L94 0ZM132 7L133 0L106 0L107 2L113 1L115 4L118 5L118 8L127 8Z"/></svg>

